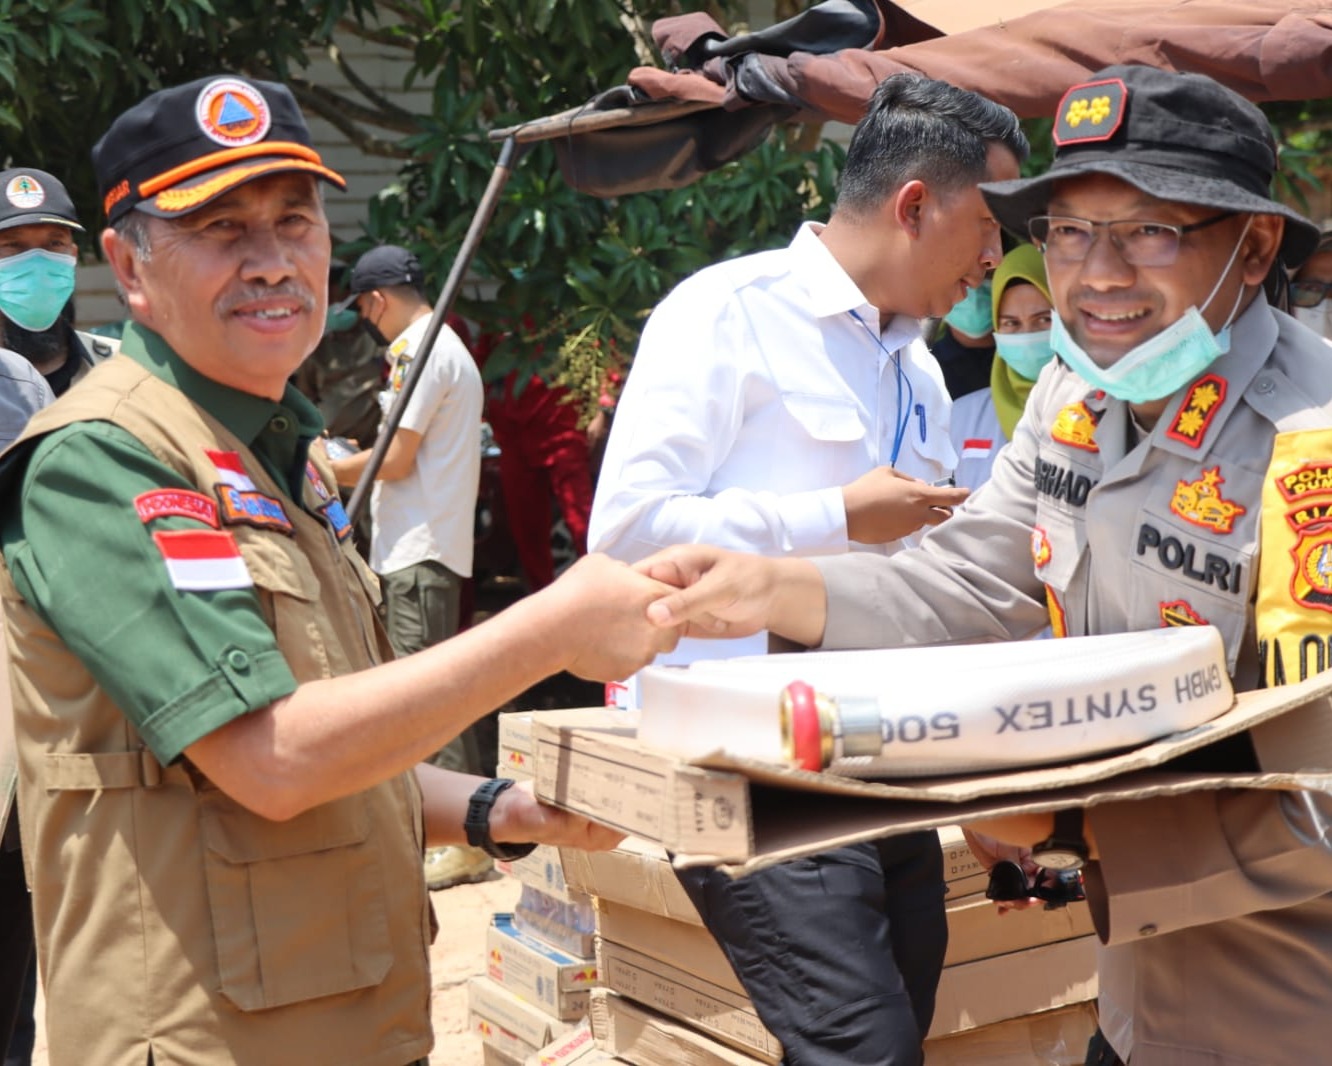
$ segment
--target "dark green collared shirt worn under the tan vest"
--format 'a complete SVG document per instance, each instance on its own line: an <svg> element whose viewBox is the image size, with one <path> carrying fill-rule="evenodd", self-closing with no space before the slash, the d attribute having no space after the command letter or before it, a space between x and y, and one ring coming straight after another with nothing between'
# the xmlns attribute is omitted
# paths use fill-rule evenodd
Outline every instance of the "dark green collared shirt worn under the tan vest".
<svg viewBox="0 0 1332 1066"><path fill-rule="evenodd" d="M125 330L120 350L244 441L286 489L284 504L301 506L309 445L322 421L296 389L273 402L218 385L143 326ZM254 590L178 592L135 510L141 493L193 485L111 422L76 422L5 457L24 460L0 521L15 585L164 765L294 692ZM152 522L197 528L180 517Z"/></svg>

